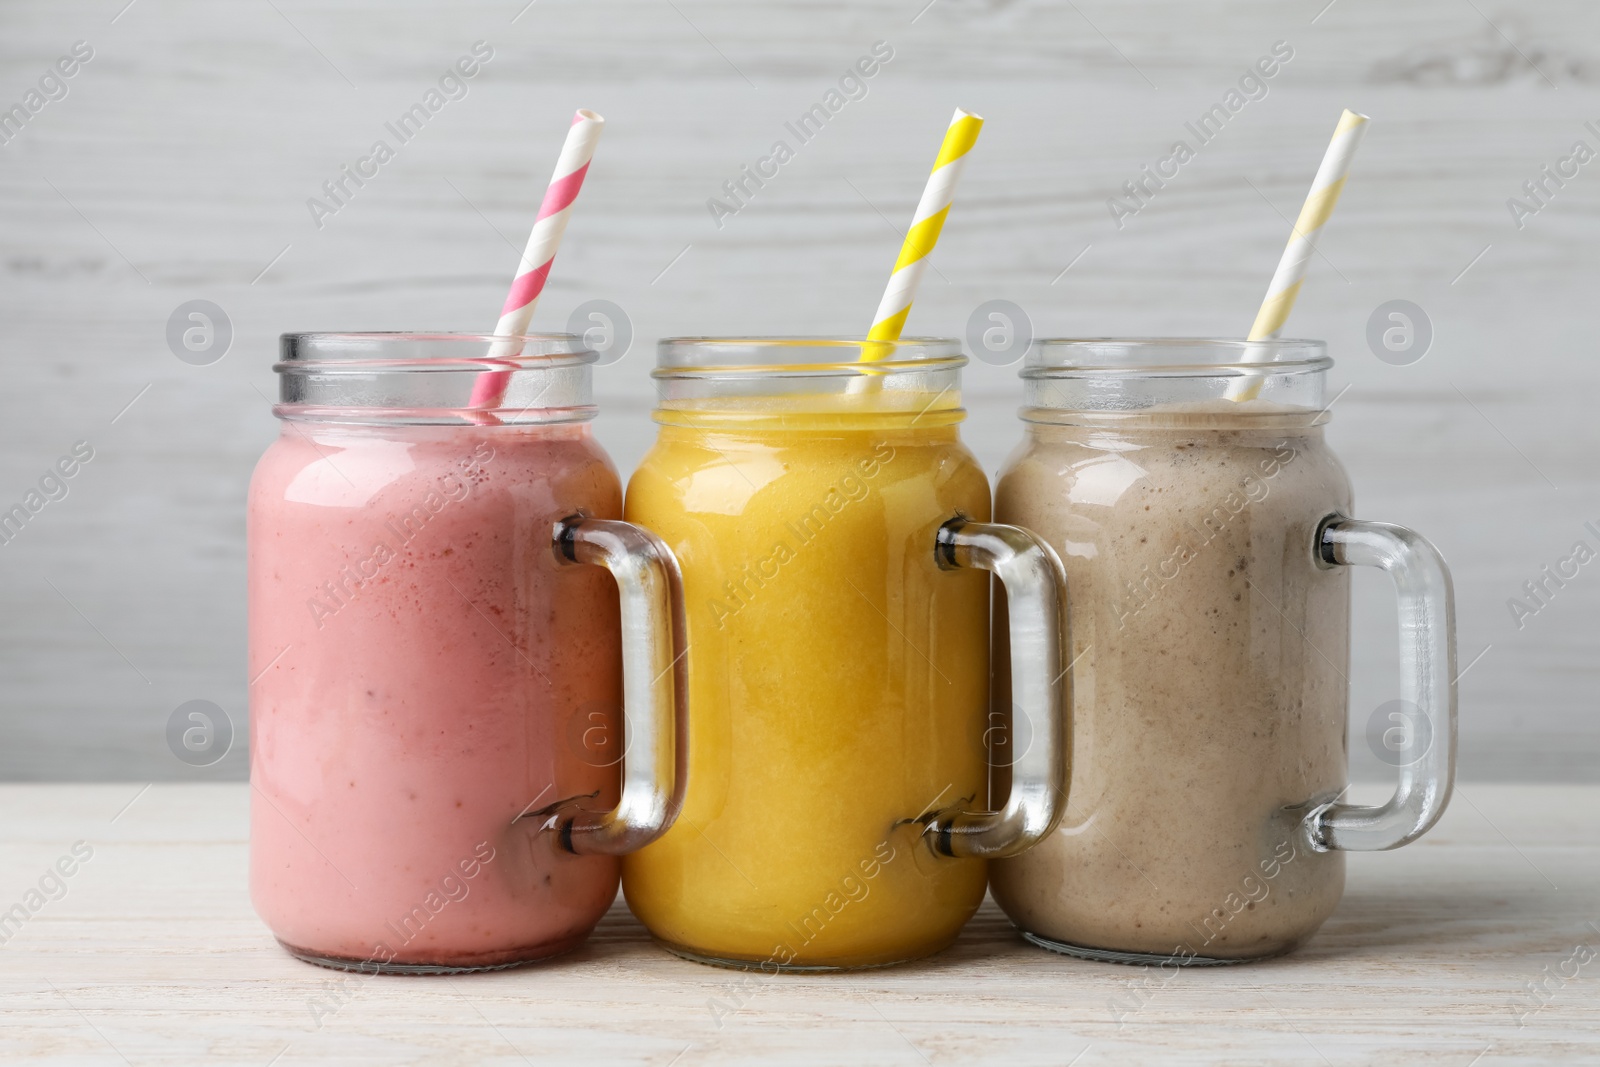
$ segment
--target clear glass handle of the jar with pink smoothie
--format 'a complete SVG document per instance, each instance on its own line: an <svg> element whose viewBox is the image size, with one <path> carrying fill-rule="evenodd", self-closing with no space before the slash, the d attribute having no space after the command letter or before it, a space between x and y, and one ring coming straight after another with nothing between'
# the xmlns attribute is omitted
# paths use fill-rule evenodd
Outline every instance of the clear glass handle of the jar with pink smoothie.
<svg viewBox="0 0 1600 1067"><path fill-rule="evenodd" d="M619 856L667 832L688 785L683 577L672 549L642 526L573 515L555 523L555 557L611 571L622 605L622 797L613 811L552 822L578 854Z"/></svg>

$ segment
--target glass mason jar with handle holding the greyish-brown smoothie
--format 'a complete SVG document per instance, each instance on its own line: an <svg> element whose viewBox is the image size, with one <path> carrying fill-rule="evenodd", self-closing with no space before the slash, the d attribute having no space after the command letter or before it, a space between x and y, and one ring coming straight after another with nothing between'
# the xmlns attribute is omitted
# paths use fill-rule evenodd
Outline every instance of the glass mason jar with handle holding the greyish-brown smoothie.
<svg viewBox="0 0 1600 1067"><path fill-rule="evenodd" d="M992 867L1029 941L1123 963L1288 952L1338 904L1346 851L1443 813L1450 573L1410 530L1350 518L1330 366L1320 341L1035 342L995 512L1066 563L1075 697L1059 829ZM1259 397L1227 400L1240 379ZM1395 582L1414 731L1374 808L1342 800L1349 566Z"/></svg>

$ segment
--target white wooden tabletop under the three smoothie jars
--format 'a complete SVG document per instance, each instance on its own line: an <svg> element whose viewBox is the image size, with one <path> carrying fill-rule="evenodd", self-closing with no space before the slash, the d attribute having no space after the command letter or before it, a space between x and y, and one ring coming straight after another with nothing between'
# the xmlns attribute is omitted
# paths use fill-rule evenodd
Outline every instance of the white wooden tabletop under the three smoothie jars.
<svg viewBox="0 0 1600 1067"><path fill-rule="evenodd" d="M866 974L744 981L656 949L619 902L542 966L346 977L285 955L251 912L246 808L238 784L0 785L0 910L74 841L93 848L66 896L0 945L0 1062L1600 1057L1592 785L1467 782L1419 845L1352 857L1344 904L1302 952L1166 982L1029 949L992 904L942 955ZM736 1008L722 1025L714 1001ZM318 1005L333 1008L320 1025Z"/></svg>

